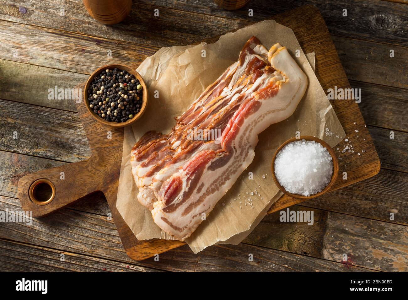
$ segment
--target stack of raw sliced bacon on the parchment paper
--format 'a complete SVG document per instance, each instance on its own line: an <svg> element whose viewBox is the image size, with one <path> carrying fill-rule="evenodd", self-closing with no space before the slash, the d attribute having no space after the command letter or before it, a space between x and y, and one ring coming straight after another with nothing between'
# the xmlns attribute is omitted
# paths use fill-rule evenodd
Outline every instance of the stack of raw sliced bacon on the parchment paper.
<svg viewBox="0 0 408 300"><path fill-rule="evenodd" d="M258 134L291 116L306 87L286 47L268 51L249 39L239 60L176 118L171 133L148 132L133 147L137 199L154 222L179 240L190 236L252 162ZM199 130L222 134L191 138Z"/></svg>

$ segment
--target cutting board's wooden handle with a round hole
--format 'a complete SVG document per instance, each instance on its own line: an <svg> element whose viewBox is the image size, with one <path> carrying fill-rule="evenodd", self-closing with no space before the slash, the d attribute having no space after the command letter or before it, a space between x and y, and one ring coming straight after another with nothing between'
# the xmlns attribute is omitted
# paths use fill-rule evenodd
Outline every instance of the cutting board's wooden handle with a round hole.
<svg viewBox="0 0 408 300"><path fill-rule="evenodd" d="M95 174L91 160L27 174L18 181L22 209L32 211L33 217L41 217L66 207L98 190L98 184L82 185L94 176L98 174Z"/></svg>

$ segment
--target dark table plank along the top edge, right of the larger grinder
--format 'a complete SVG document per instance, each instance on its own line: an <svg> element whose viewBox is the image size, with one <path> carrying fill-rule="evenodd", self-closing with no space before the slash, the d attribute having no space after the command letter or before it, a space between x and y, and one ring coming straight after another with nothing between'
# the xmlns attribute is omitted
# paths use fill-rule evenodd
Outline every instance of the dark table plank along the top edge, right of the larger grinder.
<svg viewBox="0 0 408 300"><path fill-rule="evenodd" d="M194 2L190 0L136 0L136 2L249 22L264 20L277 13L312 4L319 8L331 34L381 43L408 45L407 5L379 0L346 0L341 3L321 0L286 0L279 2L279 5L274 5L269 0L252 0L242 9L235 11L221 9L212 0ZM253 10L253 16L248 16L249 9ZM347 9L347 17L343 17L343 9Z"/></svg>

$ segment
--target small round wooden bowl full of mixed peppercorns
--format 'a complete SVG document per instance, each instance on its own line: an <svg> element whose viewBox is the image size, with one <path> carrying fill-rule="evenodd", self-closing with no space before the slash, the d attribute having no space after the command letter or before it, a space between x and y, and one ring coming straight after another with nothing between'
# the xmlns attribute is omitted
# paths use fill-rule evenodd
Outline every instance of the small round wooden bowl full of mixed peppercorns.
<svg viewBox="0 0 408 300"><path fill-rule="evenodd" d="M121 64L98 68L89 76L84 102L91 115L108 126L124 127L142 117L148 92L142 76Z"/></svg>

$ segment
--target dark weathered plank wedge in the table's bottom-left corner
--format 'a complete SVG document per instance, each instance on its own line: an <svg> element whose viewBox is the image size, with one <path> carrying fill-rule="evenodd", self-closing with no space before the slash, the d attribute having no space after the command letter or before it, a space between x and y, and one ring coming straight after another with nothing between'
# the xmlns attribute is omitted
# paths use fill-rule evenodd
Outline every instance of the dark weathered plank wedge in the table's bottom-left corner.
<svg viewBox="0 0 408 300"><path fill-rule="evenodd" d="M64 256L62 257L61 254ZM67 251L25 245L0 239L0 271L33 272L155 272L159 270L125 264Z"/></svg>

